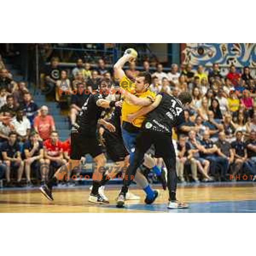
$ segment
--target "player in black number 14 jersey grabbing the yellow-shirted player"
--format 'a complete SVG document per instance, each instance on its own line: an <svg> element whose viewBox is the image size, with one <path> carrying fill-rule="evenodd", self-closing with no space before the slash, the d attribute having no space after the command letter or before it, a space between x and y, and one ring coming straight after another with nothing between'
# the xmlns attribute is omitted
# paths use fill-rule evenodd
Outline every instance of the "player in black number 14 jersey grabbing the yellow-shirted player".
<svg viewBox="0 0 256 256"><path fill-rule="evenodd" d="M128 95L128 97L136 97ZM167 168L167 186L169 189L168 208L186 208L176 199L177 173L176 173L176 154L172 144L172 127L183 122L184 105L192 101L190 93L180 93L179 99L167 93L157 95L156 101L151 105L142 108L137 113L130 115L130 119L137 118L148 113L143 122L142 131L136 140L134 163L128 167L128 179L123 181L122 190L117 200L117 207L123 207L125 194L131 183L132 177L136 174L138 166L143 161L145 152L152 144L155 147L155 156L162 157ZM136 98L134 98L136 100Z"/></svg>

